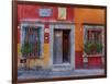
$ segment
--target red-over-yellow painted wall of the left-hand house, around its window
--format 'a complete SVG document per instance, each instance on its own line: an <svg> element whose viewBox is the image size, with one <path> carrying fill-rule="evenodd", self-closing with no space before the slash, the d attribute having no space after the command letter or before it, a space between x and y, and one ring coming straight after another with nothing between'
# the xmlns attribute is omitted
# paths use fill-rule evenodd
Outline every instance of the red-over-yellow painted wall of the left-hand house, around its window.
<svg viewBox="0 0 110 84"><path fill-rule="evenodd" d="M47 17L42 17L38 15L38 9L41 8L50 8L53 10L52 16L47 16ZM18 5L18 26L21 25L21 21L22 20L45 20L45 21L61 21L58 19L58 7L47 7L47 5ZM74 21L74 11L70 8L66 8L66 20L63 21ZM48 24L44 24L44 28L50 28ZM45 34L44 35L50 35L50 34ZM44 69L47 69L50 67L50 43L45 43L44 40L44 55L42 59L29 59L26 60L28 65L29 67L33 67L33 65L42 65ZM20 56L20 29L18 29L18 56L19 58ZM20 60L20 59L19 59Z"/></svg>

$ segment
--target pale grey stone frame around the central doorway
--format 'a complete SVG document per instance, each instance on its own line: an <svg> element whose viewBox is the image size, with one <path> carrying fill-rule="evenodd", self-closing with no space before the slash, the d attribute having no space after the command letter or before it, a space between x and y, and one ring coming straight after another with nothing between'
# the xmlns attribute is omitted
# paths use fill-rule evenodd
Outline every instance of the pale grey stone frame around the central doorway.
<svg viewBox="0 0 110 84"><path fill-rule="evenodd" d="M50 68L53 69L53 41L54 41L54 28L56 29L70 29L70 69L75 69L75 26L72 24L53 24L50 25ZM64 63L62 64L64 65ZM66 65L66 64L65 64Z"/></svg>

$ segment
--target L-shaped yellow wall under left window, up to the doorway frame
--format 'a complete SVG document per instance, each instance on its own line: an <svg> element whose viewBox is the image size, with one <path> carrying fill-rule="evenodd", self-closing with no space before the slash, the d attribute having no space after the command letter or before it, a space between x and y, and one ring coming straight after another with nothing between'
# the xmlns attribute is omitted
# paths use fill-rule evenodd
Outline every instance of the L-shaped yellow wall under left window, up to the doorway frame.
<svg viewBox="0 0 110 84"><path fill-rule="evenodd" d="M28 68L31 67L42 67L43 69L48 69L48 63L50 63L50 45L44 44L44 51L43 51L43 58L41 59L28 59L26 60L26 65Z"/></svg>

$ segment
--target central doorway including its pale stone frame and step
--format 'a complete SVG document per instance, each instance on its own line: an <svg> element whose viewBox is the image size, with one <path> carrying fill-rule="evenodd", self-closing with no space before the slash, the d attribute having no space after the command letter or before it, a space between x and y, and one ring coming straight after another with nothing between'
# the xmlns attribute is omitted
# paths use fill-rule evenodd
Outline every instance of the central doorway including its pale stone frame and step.
<svg viewBox="0 0 110 84"><path fill-rule="evenodd" d="M75 26L50 25L50 68L55 71L75 69Z"/></svg>

